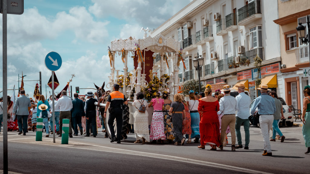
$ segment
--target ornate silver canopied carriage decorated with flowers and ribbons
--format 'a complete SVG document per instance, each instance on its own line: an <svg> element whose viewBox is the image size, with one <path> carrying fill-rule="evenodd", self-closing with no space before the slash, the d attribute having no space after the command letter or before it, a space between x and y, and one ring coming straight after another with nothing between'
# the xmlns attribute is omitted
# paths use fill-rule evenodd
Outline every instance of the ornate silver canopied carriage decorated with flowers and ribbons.
<svg viewBox="0 0 310 174"><path fill-rule="evenodd" d="M135 39L135 37L129 37L125 40L119 39L111 42L111 46L108 47L111 74L107 88L113 91L113 84L118 83L120 85L119 91L122 92L126 98L130 98L128 106L123 106L123 128L122 137L127 138L128 124L134 123L135 107L132 106L132 101L136 99L138 92L143 92L145 98L150 101L155 98L156 92L167 91L170 93L170 100L173 100L174 94L178 93L179 89L179 63L183 62L182 49L178 48L178 43L175 39L169 37L163 37L157 35L155 37L146 37L144 33L143 39ZM120 58L116 58L116 55ZM129 57L129 55L132 55ZM156 55L160 55L160 71L159 76L153 72L154 58ZM129 58L129 60L128 60ZM169 60L168 60L169 59ZM172 60L172 61L171 61ZM128 72L127 62L134 61L135 68ZM124 64L123 74L119 75L119 70L115 70L115 62ZM170 62L170 64L168 63ZM184 63L184 62L183 62ZM164 74L163 67L167 66L168 73ZM171 66L171 67L170 67ZM169 67L172 73L169 74ZM158 78L159 77L159 78ZM103 107L105 107L105 101L108 97L109 91L104 90L102 87L96 86L98 89L97 94L100 103L100 113L103 115ZM148 108L148 121L151 124L153 107ZM108 120L108 113L107 118ZM114 122L115 123L115 122ZM110 136L110 130L105 121L106 136ZM114 126L114 129L116 125ZM115 129L116 130L116 129Z"/></svg>

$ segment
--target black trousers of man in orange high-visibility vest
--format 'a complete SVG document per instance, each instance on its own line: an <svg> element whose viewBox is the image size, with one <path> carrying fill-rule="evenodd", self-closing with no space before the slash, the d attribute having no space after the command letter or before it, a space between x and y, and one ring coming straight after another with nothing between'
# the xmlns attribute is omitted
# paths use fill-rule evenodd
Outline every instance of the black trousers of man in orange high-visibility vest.
<svg viewBox="0 0 310 174"><path fill-rule="evenodd" d="M115 137L115 131L113 126L114 119L116 119L117 140L121 140L121 132L123 126L123 110L121 108L114 108L114 113L109 114L108 125L111 133L111 138Z"/></svg>

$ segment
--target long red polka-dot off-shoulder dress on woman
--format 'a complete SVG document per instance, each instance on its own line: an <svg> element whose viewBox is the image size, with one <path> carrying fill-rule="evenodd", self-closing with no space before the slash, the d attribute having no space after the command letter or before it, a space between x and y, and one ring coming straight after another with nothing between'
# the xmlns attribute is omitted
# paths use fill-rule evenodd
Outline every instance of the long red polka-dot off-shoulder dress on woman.
<svg viewBox="0 0 310 174"><path fill-rule="evenodd" d="M219 147L219 117L217 111L219 110L219 102L205 102L201 100L198 105L198 111L203 114L199 123L200 143L204 146L208 143L211 147L215 144Z"/></svg>

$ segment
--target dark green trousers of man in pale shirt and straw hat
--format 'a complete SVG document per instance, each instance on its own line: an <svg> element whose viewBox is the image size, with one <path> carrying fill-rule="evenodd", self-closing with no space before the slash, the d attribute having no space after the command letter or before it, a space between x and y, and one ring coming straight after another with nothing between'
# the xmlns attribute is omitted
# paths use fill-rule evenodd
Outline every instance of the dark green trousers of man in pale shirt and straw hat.
<svg viewBox="0 0 310 174"><path fill-rule="evenodd" d="M243 123L243 128L244 132L246 133L246 144L245 146L249 146L250 143L250 120L249 119L241 119L239 117L236 117L236 136L237 136L237 141L238 145L242 145L242 137L241 137L241 132L240 132L240 127L241 124Z"/></svg>

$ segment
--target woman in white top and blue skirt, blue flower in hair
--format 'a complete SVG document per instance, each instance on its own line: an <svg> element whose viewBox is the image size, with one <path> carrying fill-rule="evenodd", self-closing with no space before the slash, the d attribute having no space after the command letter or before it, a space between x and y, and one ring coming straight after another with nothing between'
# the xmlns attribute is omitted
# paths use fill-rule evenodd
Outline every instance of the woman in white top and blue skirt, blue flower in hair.
<svg viewBox="0 0 310 174"><path fill-rule="evenodd" d="M187 102L189 113L191 115L191 129L192 138L195 138L194 142L199 143L200 133L199 133L199 122L200 116L198 113L199 100L195 100L195 93L193 90L189 91L189 101Z"/></svg>

